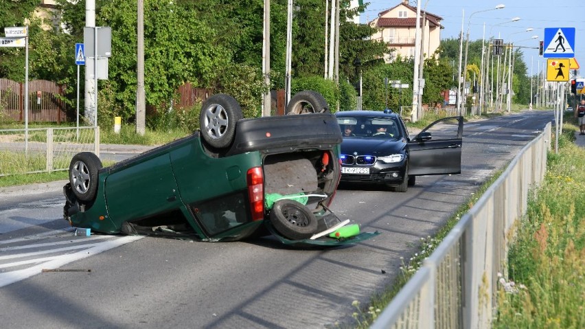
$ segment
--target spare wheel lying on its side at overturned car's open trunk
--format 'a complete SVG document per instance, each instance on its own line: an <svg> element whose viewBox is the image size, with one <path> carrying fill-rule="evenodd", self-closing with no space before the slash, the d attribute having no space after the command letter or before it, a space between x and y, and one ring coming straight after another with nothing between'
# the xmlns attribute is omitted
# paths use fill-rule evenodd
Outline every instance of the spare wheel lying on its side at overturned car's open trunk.
<svg viewBox="0 0 585 329"><path fill-rule="evenodd" d="M297 201L276 201L270 212L270 220L274 228L290 240L308 239L317 232L317 218Z"/></svg>

